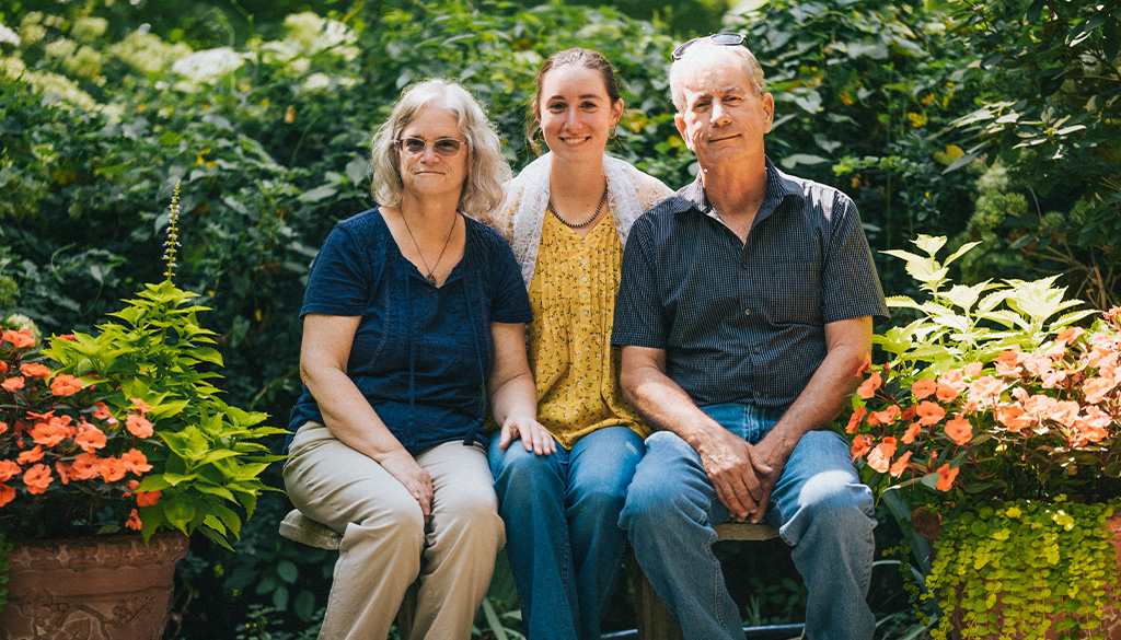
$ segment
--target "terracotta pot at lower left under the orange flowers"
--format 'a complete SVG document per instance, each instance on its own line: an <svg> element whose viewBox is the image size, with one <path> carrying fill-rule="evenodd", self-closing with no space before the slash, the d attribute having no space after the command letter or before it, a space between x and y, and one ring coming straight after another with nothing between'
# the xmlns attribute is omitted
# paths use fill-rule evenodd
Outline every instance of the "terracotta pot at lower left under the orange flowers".
<svg viewBox="0 0 1121 640"><path fill-rule="evenodd" d="M0 640L159 640L189 538L15 542Z"/></svg>

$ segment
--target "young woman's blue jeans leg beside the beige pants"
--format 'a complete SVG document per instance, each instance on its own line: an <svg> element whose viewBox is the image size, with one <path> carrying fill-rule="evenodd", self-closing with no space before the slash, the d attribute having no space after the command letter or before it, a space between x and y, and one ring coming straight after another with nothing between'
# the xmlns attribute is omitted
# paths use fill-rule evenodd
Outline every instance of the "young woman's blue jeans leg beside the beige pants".
<svg viewBox="0 0 1121 640"><path fill-rule="evenodd" d="M490 467L507 555L530 640L576 640L580 619L568 522L565 516L568 452L527 452L520 440L504 451L491 442Z"/></svg>

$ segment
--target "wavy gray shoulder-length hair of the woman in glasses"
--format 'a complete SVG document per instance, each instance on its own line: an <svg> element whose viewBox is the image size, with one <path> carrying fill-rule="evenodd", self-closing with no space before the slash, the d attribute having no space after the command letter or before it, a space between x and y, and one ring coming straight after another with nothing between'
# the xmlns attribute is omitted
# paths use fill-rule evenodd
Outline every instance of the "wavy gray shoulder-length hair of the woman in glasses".
<svg viewBox="0 0 1121 640"><path fill-rule="evenodd" d="M467 177L458 208L475 220L485 219L506 197L502 184L512 175L510 165L502 157L498 133L482 105L467 90L447 80L426 80L406 87L389 120L374 132L371 145L373 183L370 185L373 200L391 206L401 203L400 150L395 140L426 106L436 106L454 115L460 132L467 139Z"/></svg>

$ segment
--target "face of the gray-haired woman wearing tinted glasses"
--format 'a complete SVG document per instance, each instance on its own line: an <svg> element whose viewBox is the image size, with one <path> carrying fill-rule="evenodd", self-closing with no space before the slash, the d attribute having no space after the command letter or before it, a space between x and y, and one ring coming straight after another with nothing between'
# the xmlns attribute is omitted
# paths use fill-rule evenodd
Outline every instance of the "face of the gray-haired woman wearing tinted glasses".
<svg viewBox="0 0 1121 640"><path fill-rule="evenodd" d="M405 193L419 197L448 196L458 198L467 178L467 138L460 131L455 115L439 106L425 106L408 127L401 130L398 146L401 183ZM454 142L460 148L450 152ZM424 147L420 148L420 143ZM410 150L414 147L414 150Z"/></svg>

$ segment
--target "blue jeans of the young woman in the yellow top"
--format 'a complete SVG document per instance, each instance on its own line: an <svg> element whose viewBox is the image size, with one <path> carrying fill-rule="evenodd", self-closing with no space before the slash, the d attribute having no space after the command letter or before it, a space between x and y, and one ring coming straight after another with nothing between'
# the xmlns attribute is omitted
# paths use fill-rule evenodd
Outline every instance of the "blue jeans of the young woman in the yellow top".
<svg viewBox="0 0 1121 640"><path fill-rule="evenodd" d="M548 456L520 440L502 451L492 439L494 492L530 640L600 638L627 546L619 512L643 451L627 427L594 430Z"/></svg>

